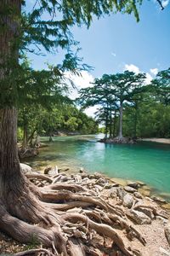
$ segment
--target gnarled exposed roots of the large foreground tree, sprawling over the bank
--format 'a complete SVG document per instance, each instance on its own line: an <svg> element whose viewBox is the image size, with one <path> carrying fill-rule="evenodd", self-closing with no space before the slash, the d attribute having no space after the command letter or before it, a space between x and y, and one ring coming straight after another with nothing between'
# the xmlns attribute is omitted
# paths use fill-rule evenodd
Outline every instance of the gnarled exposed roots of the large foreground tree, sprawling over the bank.
<svg viewBox="0 0 170 256"><path fill-rule="evenodd" d="M87 186L82 187L75 183L53 183L53 177L45 175L27 177L46 180L50 184L39 189L26 182L26 190L20 197L9 196L10 207L0 203L0 229L20 242L36 242L51 249L40 248L15 256L41 252L48 256L102 255L99 248L105 248L105 243L97 245L94 242L96 234L110 239L127 256L135 255L128 234L145 245L144 237L128 223L126 211L94 195L95 192L88 189L89 179ZM126 241L121 234L123 237L127 234Z"/></svg>

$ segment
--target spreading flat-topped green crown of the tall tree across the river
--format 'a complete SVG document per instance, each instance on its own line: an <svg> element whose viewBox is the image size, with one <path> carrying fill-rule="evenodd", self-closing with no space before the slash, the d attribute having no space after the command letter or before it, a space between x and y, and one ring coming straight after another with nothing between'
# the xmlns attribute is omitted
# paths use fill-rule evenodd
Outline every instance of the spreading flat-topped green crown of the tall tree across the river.
<svg viewBox="0 0 170 256"><path fill-rule="evenodd" d="M131 104L139 94L146 90L144 79L144 73L135 74L129 71L111 75L104 74L101 79L95 79L94 87L80 90L81 96L78 102L83 108L99 106L96 117L100 122L105 122L105 137L108 131L110 137L115 137L116 114L119 111L121 117L119 134L122 135L123 104L124 102Z"/></svg>

